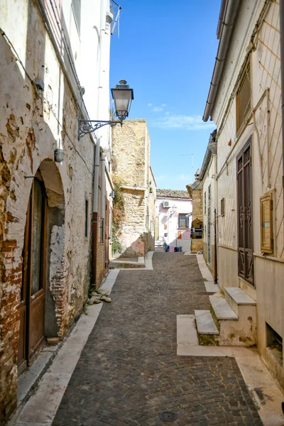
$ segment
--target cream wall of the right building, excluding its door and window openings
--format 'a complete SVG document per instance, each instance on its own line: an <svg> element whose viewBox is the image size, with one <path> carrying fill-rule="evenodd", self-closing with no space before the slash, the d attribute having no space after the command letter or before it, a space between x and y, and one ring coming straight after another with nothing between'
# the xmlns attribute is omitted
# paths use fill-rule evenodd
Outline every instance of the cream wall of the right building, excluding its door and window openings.
<svg viewBox="0 0 284 426"><path fill-rule="evenodd" d="M231 46L217 94L212 118L217 124L218 135L218 210L225 198L225 215L219 216L219 284L221 287L244 282L237 275L237 198L236 157L249 138L252 138L253 167L253 245L254 275L256 290L246 284L249 294L256 297L258 312L258 347L271 371L284 384L283 366L280 366L266 347L266 323L284 339L283 277L283 187L282 187L282 141L280 111L280 33L279 3L269 2L268 11L258 28L256 50L251 52L251 82L253 114L248 125L236 133L236 98L229 105L224 126L224 112L228 108L251 33L264 5L264 0L241 2ZM269 91L266 91L266 89ZM268 101L268 102L267 102ZM273 239L272 256L261 253L260 197L273 192ZM253 293L254 292L254 293Z"/></svg>

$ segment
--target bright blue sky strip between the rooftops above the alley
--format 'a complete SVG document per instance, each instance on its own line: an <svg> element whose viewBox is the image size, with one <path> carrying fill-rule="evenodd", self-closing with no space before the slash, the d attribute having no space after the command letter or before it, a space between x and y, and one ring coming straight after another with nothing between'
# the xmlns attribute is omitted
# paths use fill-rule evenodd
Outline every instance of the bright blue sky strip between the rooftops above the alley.
<svg viewBox="0 0 284 426"><path fill-rule="evenodd" d="M202 115L217 54L221 0L116 3L122 9L119 38L117 25L111 36L111 87L125 79L133 88L129 118L147 120L157 187L185 190L214 130Z"/></svg>

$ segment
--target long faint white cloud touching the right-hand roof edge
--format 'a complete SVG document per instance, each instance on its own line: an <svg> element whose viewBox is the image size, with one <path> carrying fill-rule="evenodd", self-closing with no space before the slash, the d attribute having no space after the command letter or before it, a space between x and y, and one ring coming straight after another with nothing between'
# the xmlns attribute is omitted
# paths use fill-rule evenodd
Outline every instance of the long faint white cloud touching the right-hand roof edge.
<svg viewBox="0 0 284 426"><path fill-rule="evenodd" d="M214 129L215 124L212 121L204 123L202 116L185 116L185 115L167 115L160 117L154 121L156 127L162 129Z"/></svg>

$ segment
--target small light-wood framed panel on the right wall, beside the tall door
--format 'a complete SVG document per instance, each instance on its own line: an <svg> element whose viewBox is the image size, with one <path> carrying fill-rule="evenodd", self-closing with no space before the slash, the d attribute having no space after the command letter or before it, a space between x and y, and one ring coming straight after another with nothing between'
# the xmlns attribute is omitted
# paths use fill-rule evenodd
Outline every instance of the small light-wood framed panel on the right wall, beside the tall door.
<svg viewBox="0 0 284 426"><path fill-rule="evenodd" d="M272 192L261 197L261 253L273 253Z"/></svg>

